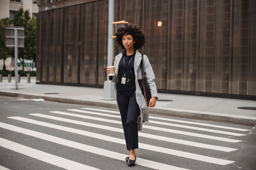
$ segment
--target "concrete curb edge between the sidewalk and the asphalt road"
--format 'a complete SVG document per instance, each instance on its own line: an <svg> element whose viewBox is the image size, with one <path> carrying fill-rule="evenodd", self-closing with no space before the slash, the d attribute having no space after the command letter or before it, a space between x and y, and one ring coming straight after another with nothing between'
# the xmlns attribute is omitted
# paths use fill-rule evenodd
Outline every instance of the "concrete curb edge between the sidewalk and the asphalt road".
<svg viewBox="0 0 256 170"><path fill-rule="evenodd" d="M76 100L76 99L70 99L65 97L53 97L53 96L41 95L41 94L24 94L19 92L8 92L8 91L0 90L0 96L19 97L19 98L25 98L25 99L42 98L44 100L52 101L52 102L118 108L117 104L97 102L97 101L87 101L87 100ZM250 117L250 116L190 111L190 110L184 110L184 109L163 108L163 107L149 108L149 112L152 114L158 114L158 115L167 115L167 116L182 117L182 118L211 120L211 121L218 121L218 122L256 126L256 117Z"/></svg>

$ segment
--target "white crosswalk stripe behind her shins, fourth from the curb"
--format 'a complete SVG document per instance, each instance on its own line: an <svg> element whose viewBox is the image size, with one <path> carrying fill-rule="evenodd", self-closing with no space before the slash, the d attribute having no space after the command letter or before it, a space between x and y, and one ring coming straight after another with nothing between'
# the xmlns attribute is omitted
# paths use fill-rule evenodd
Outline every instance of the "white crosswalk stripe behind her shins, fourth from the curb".
<svg viewBox="0 0 256 170"><path fill-rule="evenodd" d="M87 123L87 122L83 122L83 121L77 121L77 120L60 118L60 117L49 116L49 115L35 115L35 114L32 114L32 115L33 116L43 117L43 118L48 118L48 119L53 119L53 120L58 120L58 121L63 121L63 122L79 124L79 125L83 125L83 126L89 126L89 127L93 127L93 128L99 128L99 129L104 129L104 130L110 130L110 131L114 131L114 132L124 133L123 129L114 128L114 127L111 127L111 126L104 126L104 125L100 125L100 124ZM238 150L238 149L234 149L234 148L227 148L227 147L220 147L220 146L215 146L215 145L208 145L208 144L204 144L204 143L198 143L198 142L191 142L191 141L187 141L187 140L174 139L174 138L158 136L158 135L152 135L152 134L142 133L142 132L138 132L138 136L142 136L142 137L146 137L146 138L151 138L151 139L162 140L162 141L167 141L167 142L179 143L179 144L182 144L182 145L188 145L188 146L194 146L194 147L200 147L200 148L224 151L224 152L230 152L230 151Z"/></svg>

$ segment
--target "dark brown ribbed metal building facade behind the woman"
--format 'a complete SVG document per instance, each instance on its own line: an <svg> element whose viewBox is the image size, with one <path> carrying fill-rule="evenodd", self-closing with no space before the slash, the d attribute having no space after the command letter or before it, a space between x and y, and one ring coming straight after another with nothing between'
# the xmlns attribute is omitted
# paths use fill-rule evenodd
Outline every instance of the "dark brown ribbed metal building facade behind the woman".
<svg viewBox="0 0 256 170"><path fill-rule="evenodd" d="M145 31L140 52L149 57L159 92L255 99L256 0L114 2L115 21L138 23ZM103 87L108 0L38 5L37 80Z"/></svg>

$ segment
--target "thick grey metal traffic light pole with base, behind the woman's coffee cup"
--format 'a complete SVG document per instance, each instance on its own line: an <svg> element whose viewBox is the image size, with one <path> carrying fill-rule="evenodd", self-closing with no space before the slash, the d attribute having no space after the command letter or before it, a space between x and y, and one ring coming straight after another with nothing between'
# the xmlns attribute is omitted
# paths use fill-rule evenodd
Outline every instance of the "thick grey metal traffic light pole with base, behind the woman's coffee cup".
<svg viewBox="0 0 256 170"><path fill-rule="evenodd" d="M109 29L108 29L108 66L113 65L113 54L114 54L114 42L113 42L113 24L114 21L114 0L109 0ZM109 75L107 75L107 80L104 82L103 87L103 99L113 100L116 98L114 93L114 83L112 83L108 79Z"/></svg>

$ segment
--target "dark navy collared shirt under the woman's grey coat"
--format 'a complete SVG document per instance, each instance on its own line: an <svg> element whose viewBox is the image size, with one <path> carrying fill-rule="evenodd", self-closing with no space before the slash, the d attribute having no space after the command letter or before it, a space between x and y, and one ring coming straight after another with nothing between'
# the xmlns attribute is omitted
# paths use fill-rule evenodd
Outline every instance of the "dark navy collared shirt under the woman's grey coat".
<svg viewBox="0 0 256 170"><path fill-rule="evenodd" d="M132 55L126 54L126 50L122 52L123 57L121 58L118 66L119 71L119 82L116 85L116 90L118 92L135 92L136 86L135 86L135 73L134 73L134 57L135 57L136 51ZM130 64L129 64L130 63ZM125 64L125 65L124 65ZM128 65L129 64L129 65ZM128 67L127 67L128 65ZM126 82L125 84L121 83L122 77L133 79L133 82Z"/></svg>

